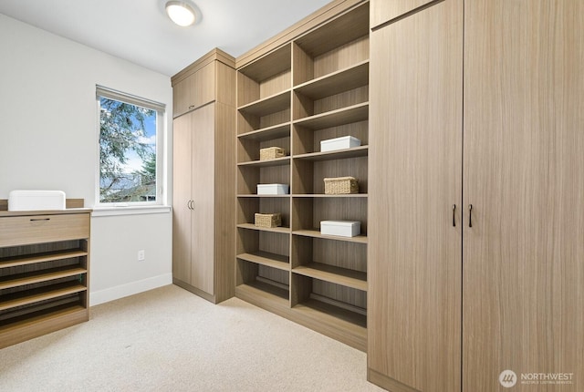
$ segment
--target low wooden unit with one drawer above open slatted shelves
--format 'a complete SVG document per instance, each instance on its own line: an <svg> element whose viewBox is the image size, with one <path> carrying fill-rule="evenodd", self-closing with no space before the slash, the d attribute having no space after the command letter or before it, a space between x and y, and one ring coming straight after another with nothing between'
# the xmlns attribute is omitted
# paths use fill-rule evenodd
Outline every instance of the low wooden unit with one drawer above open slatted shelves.
<svg viewBox="0 0 584 392"><path fill-rule="evenodd" d="M0 348L89 320L89 216L0 211Z"/></svg>

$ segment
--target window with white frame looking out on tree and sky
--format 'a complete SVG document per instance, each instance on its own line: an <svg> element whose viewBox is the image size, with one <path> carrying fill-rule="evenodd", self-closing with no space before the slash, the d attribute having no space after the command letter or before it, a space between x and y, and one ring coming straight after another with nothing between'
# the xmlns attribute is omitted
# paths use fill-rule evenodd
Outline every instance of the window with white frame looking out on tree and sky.
<svg viewBox="0 0 584 392"><path fill-rule="evenodd" d="M161 204L163 104L96 88L99 204Z"/></svg>

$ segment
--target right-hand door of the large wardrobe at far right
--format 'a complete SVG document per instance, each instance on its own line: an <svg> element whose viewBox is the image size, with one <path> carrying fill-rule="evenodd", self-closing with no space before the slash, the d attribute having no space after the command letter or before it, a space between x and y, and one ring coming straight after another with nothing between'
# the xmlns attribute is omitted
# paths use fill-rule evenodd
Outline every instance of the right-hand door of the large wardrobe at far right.
<svg viewBox="0 0 584 392"><path fill-rule="evenodd" d="M466 1L464 26L464 391L581 391L584 2Z"/></svg>

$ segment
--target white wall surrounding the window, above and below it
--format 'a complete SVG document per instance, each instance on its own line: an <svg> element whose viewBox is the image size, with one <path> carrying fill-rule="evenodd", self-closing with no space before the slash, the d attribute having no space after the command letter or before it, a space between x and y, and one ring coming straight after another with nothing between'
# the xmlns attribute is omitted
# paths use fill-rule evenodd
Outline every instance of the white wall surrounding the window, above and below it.
<svg viewBox="0 0 584 392"><path fill-rule="evenodd" d="M92 207L96 84L165 103L170 114L170 77L5 15L0 36L0 199L16 189L61 190ZM172 133L172 115L166 127ZM141 249L146 260L139 263ZM91 304L171 281L170 212L92 218Z"/></svg>

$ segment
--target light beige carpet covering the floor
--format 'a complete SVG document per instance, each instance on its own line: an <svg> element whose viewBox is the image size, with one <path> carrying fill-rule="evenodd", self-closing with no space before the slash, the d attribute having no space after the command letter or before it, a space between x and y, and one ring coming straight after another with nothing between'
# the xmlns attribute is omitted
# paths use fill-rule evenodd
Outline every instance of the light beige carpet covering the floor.
<svg viewBox="0 0 584 392"><path fill-rule="evenodd" d="M0 391L380 391L366 355L239 299L169 285L0 350Z"/></svg>

